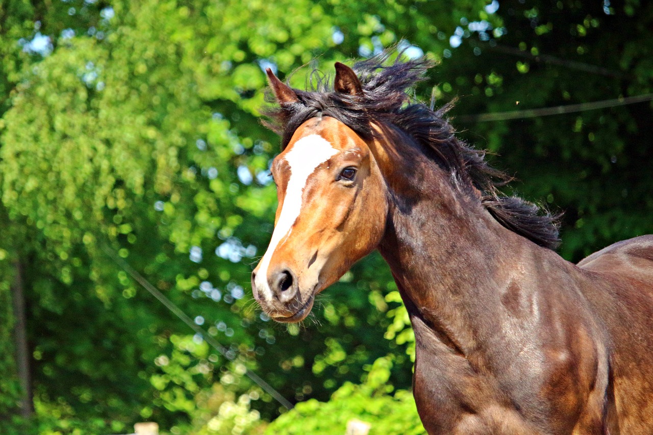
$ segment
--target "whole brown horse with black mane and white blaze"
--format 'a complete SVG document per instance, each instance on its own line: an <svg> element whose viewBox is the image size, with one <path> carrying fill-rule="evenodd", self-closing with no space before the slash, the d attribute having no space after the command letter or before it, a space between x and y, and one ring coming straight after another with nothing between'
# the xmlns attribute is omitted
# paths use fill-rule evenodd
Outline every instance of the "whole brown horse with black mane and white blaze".
<svg viewBox="0 0 653 435"><path fill-rule="evenodd" d="M653 434L653 236L568 263L554 218L502 197L446 108L407 97L428 61L383 61L336 63L332 91L268 71L283 152L252 274L263 310L304 319L377 249L415 330L429 434Z"/></svg>

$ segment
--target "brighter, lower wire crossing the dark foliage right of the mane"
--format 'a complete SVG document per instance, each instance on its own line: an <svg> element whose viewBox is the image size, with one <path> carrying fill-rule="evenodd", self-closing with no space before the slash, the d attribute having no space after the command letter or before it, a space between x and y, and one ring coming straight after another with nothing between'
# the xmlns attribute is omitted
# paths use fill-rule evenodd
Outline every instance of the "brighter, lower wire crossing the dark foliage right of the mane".
<svg viewBox="0 0 653 435"><path fill-rule="evenodd" d="M460 122L488 122L488 121L506 121L518 120L522 118L537 118L539 116L561 115L575 112L585 112L586 110L596 110L600 108L625 106L635 103L644 103L653 100L653 93L635 95L633 97L620 97L611 100L594 101L592 103L580 103L577 105L554 106L537 109L513 110L511 112L494 112L483 113L478 115L460 115L456 116L456 121Z"/></svg>

